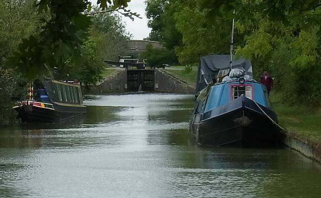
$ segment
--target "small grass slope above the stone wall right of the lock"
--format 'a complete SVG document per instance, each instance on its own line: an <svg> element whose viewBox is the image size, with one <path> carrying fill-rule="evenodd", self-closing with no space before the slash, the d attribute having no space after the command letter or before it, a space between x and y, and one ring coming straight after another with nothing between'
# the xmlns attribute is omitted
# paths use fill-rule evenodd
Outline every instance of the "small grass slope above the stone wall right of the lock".
<svg viewBox="0 0 321 198"><path fill-rule="evenodd" d="M177 78L187 82L189 85L196 85L197 67L193 67L190 73L184 71L184 66L170 66L166 67L165 71Z"/></svg>

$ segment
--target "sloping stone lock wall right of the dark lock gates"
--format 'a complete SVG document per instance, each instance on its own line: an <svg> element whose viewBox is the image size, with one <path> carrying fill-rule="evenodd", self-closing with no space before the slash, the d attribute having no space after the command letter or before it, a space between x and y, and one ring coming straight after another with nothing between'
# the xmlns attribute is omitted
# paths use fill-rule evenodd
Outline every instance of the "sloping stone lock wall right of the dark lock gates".
<svg viewBox="0 0 321 198"><path fill-rule="evenodd" d="M155 69L155 92L195 94L195 87L160 69Z"/></svg>

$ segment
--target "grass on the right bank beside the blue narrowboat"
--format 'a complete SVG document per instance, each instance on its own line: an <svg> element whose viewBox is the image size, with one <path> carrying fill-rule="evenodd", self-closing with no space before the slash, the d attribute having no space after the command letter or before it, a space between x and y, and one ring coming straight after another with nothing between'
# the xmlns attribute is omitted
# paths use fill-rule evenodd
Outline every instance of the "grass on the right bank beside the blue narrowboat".
<svg viewBox="0 0 321 198"><path fill-rule="evenodd" d="M320 109L281 102L281 94L272 92L270 99L278 115L280 125L299 138L321 143Z"/></svg>

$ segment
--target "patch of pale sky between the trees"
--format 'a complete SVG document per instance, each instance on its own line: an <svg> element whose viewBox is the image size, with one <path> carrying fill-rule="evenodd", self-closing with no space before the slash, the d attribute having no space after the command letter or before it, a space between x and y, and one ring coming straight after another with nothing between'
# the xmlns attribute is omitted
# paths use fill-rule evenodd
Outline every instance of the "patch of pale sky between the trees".
<svg viewBox="0 0 321 198"><path fill-rule="evenodd" d="M128 3L127 9L130 9L132 12L137 12L140 14L142 19L135 17L132 21L128 17L122 16L123 21L126 23L126 30L132 34L132 39L142 40L148 37L151 29L147 27L147 18L145 15L145 0L131 0Z"/></svg>

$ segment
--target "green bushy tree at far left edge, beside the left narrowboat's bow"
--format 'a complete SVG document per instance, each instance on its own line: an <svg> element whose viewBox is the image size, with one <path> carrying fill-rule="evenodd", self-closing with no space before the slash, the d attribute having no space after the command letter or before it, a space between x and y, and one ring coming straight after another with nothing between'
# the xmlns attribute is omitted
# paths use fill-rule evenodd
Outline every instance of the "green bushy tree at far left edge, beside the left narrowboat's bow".
<svg viewBox="0 0 321 198"><path fill-rule="evenodd" d="M17 50L21 39L40 32L40 18L47 15L32 14L35 11L31 1L0 0L0 125L16 122L12 106L27 93L26 81L18 72L4 69L3 64Z"/></svg>

